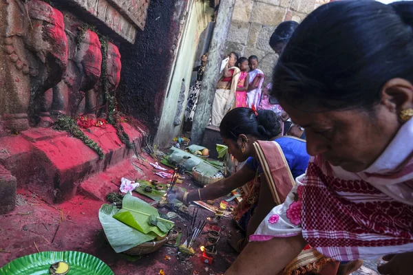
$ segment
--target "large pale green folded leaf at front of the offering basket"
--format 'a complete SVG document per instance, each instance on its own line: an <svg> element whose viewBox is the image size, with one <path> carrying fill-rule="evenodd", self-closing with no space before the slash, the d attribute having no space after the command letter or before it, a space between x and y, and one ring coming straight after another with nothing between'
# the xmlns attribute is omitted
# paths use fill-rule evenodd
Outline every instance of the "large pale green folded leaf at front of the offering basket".
<svg viewBox="0 0 413 275"><path fill-rule="evenodd" d="M141 243L152 241L155 236L144 234L115 219L119 209L109 204L103 204L99 210L99 221L112 248L116 253L124 252Z"/></svg>

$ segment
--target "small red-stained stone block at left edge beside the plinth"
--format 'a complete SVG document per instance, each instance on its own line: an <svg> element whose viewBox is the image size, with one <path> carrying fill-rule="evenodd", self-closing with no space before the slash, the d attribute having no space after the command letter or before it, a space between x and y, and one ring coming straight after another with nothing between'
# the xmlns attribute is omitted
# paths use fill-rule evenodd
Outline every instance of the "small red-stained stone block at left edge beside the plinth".
<svg viewBox="0 0 413 275"><path fill-rule="evenodd" d="M17 179L6 168L0 166L0 214L5 214L16 206Z"/></svg>

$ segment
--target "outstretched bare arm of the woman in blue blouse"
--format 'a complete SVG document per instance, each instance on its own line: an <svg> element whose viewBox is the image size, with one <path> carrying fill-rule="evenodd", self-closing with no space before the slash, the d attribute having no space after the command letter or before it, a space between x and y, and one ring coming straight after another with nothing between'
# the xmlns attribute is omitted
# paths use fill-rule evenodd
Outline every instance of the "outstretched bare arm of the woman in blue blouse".
<svg viewBox="0 0 413 275"><path fill-rule="evenodd" d="M243 186L251 179L254 179L255 172L248 168L246 165L242 166L240 170L237 170L233 175L227 177L226 179L221 179L213 184L209 184L200 190L201 199L217 199L219 197L225 196L232 190ZM193 190L188 193L187 201L199 201L198 190Z"/></svg>

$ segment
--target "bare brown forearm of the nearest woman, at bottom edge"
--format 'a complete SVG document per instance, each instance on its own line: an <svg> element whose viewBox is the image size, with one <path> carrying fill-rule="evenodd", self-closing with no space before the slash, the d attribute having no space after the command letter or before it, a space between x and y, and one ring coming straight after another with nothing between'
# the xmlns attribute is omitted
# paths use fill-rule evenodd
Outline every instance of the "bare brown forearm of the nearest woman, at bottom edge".
<svg viewBox="0 0 413 275"><path fill-rule="evenodd" d="M248 243L225 274L279 274L305 246L301 235Z"/></svg>

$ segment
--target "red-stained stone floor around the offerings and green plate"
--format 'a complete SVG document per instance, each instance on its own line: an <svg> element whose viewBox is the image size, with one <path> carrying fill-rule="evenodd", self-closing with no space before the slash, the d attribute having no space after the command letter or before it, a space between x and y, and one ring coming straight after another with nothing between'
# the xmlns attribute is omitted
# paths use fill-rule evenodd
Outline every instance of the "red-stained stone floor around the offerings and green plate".
<svg viewBox="0 0 413 275"><path fill-rule="evenodd" d="M212 265L202 263L200 251L188 262L182 263L176 258L176 248L164 246L153 254L127 256L116 254L105 241L98 221L98 209L104 203L103 199L108 192L118 190L120 177L156 178L147 162L153 160L149 156L145 156L145 159L147 160L126 159L117 166L109 168L105 173L87 179L75 197L59 205L43 201L41 197L31 192L30 188L19 189L15 210L0 215L0 267L13 259L37 251L77 250L97 256L107 263L116 275L151 275L158 274L160 270L163 270L165 275L223 274L237 256L227 243L229 232L234 229L230 219L222 221L226 229L222 232L222 239L218 245L219 253L213 259ZM184 180L183 185L189 189L195 188L191 179ZM160 209L160 212L169 211ZM208 210L200 208L198 217L206 219L211 214ZM183 223L189 223L179 218L173 221L181 228L184 227ZM202 239L201 236L198 243L195 243L195 248L200 247ZM170 260L165 261L165 256L170 256ZM364 266L353 274L375 275L376 267L377 262L366 261Z"/></svg>

